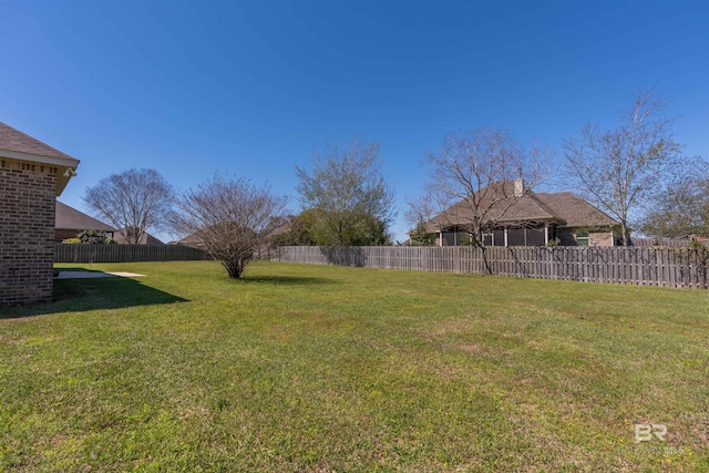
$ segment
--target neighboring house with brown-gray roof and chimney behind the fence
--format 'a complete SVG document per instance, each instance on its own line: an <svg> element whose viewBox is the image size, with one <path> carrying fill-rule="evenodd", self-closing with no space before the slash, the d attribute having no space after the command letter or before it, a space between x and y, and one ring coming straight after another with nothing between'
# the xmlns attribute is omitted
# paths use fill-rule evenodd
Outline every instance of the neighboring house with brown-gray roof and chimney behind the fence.
<svg viewBox="0 0 709 473"><path fill-rule="evenodd" d="M521 179L494 184L500 192L480 191L476 205L461 200L425 222L439 246L469 241L465 228L482 222L485 246L615 246L619 223L572 192L534 193Z"/></svg>

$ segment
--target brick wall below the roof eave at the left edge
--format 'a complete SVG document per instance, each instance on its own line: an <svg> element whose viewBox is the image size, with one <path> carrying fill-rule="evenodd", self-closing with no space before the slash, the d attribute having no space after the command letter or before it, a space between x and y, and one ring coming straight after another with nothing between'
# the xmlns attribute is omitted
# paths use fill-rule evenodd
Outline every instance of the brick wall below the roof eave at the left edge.
<svg viewBox="0 0 709 473"><path fill-rule="evenodd" d="M0 157L0 305L52 299L56 171Z"/></svg>

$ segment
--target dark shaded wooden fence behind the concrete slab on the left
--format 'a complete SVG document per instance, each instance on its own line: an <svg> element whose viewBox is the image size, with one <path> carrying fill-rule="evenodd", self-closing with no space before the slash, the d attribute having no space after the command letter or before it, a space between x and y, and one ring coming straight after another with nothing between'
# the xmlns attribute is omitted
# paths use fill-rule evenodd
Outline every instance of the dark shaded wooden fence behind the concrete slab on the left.
<svg viewBox="0 0 709 473"><path fill-rule="evenodd" d="M54 245L54 263L188 261L210 259L182 245Z"/></svg>

